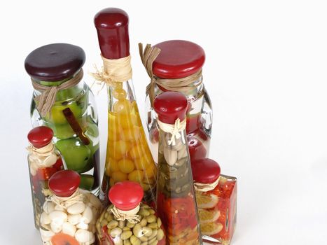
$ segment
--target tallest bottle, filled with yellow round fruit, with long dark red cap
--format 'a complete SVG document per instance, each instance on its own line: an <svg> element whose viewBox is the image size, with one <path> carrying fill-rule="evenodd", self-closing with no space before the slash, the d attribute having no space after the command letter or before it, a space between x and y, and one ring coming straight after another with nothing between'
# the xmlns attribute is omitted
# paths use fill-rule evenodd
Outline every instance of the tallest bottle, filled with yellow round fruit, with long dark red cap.
<svg viewBox="0 0 327 245"><path fill-rule="evenodd" d="M115 183L137 181L144 200L155 200L157 168L148 147L132 83L128 15L119 8L105 8L95 15L104 71L95 78L108 90L108 141L100 199Z"/></svg>

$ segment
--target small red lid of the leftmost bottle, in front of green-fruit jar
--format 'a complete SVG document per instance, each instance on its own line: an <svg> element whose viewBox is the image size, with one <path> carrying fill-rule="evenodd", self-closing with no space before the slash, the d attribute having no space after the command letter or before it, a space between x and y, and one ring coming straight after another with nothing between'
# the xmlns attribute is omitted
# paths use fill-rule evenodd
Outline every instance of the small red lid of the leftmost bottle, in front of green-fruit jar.
<svg viewBox="0 0 327 245"><path fill-rule="evenodd" d="M50 144L53 139L53 130L46 126L34 127L27 134L27 139L35 148L42 148Z"/></svg>

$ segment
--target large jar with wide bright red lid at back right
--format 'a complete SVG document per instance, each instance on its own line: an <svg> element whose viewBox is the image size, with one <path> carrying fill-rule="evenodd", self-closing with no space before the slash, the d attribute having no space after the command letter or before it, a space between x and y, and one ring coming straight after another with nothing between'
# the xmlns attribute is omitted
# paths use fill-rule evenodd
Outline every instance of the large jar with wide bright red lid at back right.
<svg viewBox="0 0 327 245"><path fill-rule="evenodd" d="M153 99L162 92L176 91L183 93L188 99L186 134L190 158L207 157L212 109L202 78L204 50L190 41L170 40L153 47L147 45L141 59L151 77L151 83L146 89L146 123L153 155L158 155L158 125Z"/></svg>

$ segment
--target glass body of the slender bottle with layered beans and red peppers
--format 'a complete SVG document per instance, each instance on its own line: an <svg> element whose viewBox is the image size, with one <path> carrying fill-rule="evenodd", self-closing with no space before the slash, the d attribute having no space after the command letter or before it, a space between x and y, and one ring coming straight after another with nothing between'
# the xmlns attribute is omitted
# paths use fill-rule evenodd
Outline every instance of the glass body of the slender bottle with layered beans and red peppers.
<svg viewBox="0 0 327 245"><path fill-rule="evenodd" d="M160 130L157 210L167 244L202 244L185 130L174 146L172 134Z"/></svg>

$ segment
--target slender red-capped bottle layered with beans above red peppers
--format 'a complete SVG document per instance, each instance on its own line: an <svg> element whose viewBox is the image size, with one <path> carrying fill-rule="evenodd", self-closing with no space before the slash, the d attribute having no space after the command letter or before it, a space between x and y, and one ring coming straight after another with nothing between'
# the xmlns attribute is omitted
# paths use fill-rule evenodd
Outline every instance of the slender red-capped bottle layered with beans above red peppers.
<svg viewBox="0 0 327 245"><path fill-rule="evenodd" d="M163 92L153 103L160 129L157 210L167 244L202 244L186 140L187 107L179 92Z"/></svg>

